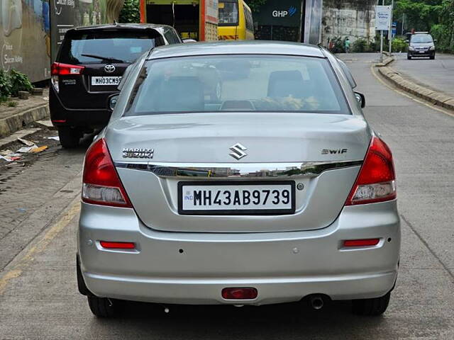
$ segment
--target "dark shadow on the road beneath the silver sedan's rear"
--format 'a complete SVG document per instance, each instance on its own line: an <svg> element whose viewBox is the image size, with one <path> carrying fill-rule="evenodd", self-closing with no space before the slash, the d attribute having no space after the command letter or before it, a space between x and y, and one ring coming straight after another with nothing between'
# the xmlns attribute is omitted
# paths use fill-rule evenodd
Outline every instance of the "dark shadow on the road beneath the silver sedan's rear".
<svg viewBox="0 0 454 340"><path fill-rule="evenodd" d="M113 327L123 334L149 334L148 339L362 339L367 334L377 339L377 328L380 338L387 336L386 317L360 317L350 308L350 302L329 302L322 310L306 302L260 307L128 302L118 317L94 323L106 331Z"/></svg>

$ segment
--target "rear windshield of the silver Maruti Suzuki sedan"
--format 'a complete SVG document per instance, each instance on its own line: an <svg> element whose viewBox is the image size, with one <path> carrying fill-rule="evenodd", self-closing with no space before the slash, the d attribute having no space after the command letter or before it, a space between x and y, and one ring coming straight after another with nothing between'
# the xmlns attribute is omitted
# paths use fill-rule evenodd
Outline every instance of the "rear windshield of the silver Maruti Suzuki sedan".
<svg viewBox="0 0 454 340"><path fill-rule="evenodd" d="M350 114L325 59L216 55L148 61L125 115L217 111Z"/></svg>

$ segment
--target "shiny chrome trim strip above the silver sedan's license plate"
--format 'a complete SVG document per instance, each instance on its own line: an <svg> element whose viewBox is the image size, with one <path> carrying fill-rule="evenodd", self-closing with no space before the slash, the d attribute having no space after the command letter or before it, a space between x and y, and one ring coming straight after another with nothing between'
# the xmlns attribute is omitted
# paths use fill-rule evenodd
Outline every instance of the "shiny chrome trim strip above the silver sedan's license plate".
<svg viewBox="0 0 454 340"><path fill-rule="evenodd" d="M360 166L362 160L301 163L128 163L115 162L117 168L153 172L162 178L298 178L319 176L323 171Z"/></svg>

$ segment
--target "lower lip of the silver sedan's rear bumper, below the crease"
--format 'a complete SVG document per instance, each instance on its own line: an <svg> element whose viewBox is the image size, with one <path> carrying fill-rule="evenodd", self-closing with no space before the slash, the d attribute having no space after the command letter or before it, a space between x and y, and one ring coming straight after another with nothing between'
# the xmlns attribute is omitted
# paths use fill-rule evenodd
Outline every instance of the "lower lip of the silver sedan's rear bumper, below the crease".
<svg viewBox="0 0 454 340"><path fill-rule="evenodd" d="M391 290L397 271L365 275L285 277L285 278L118 278L86 273L84 280L93 292L122 300L188 305L238 304L269 305L295 302L309 294L324 294L333 300L380 297ZM223 288L253 287L255 300L224 300ZM100 295L94 293L95 295Z"/></svg>

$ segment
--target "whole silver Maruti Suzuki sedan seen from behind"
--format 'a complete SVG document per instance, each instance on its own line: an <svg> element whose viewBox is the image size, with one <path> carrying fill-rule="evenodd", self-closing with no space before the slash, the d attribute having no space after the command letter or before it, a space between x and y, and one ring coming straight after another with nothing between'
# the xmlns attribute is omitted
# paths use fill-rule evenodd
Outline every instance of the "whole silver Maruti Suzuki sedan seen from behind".
<svg viewBox="0 0 454 340"><path fill-rule="evenodd" d="M347 73L287 42L135 62L84 162L77 277L92 312L304 299L382 314L399 263L394 164Z"/></svg>

